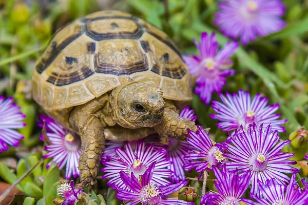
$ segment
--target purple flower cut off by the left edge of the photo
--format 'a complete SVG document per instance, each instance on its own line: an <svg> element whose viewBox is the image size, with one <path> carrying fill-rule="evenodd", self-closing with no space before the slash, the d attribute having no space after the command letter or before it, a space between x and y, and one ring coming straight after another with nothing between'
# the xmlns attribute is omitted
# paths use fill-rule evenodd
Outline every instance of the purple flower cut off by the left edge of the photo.
<svg viewBox="0 0 308 205"><path fill-rule="evenodd" d="M17 147L21 139L25 137L12 129L19 129L26 126L22 122L26 115L20 112L21 107L13 103L13 98L5 99L0 96L0 153L8 150L8 145Z"/></svg>

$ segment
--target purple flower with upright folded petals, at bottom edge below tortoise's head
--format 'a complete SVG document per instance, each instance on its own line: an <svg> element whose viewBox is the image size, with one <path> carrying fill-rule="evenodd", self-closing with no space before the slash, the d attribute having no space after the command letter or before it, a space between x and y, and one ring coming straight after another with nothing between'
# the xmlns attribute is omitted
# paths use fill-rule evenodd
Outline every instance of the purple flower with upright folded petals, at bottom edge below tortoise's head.
<svg viewBox="0 0 308 205"><path fill-rule="evenodd" d="M136 205L142 203L143 205L194 205L194 202L186 202L178 199L167 199L167 195L180 190L187 185L188 181L181 181L174 185L158 186L152 182L152 177L155 173L155 161L147 168L144 174L139 178L131 174L128 176L125 172L120 172L120 177L123 183L130 191L113 186L118 191L117 198L123 200L126 205Z"/></svg>

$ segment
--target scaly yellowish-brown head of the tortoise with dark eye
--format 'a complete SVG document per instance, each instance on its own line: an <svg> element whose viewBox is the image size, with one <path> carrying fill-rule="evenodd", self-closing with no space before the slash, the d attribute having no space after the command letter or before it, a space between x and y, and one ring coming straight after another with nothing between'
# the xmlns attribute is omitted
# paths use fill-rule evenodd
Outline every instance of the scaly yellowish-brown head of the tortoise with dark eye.
<svg viewBox="0 0 308 205"><path fill-rule="evenodd" d="M131 82L112 91L114 119L124 128L158 125L164 114L163 92L160 88Z"/></svg>

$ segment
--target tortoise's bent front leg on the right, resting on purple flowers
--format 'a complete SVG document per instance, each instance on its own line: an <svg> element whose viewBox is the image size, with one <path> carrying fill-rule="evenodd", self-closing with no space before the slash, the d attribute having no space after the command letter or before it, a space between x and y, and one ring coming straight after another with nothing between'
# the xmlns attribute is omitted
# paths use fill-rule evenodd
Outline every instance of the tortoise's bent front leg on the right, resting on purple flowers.
<svg viewBox="0 0 308 205"><path fill-rule="evenodd" d="M195 122L179 117L176 107L171 101L166 101L163 120L155 126L155 130L161 136L161 142L168 144L168 137L183 140L188 134L187 130L197 131L197 126Z"/></svg>

